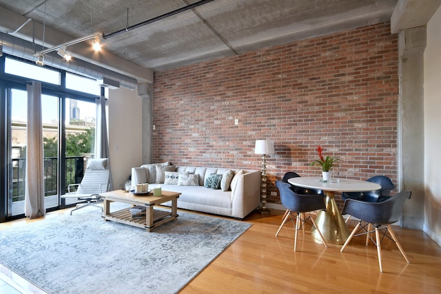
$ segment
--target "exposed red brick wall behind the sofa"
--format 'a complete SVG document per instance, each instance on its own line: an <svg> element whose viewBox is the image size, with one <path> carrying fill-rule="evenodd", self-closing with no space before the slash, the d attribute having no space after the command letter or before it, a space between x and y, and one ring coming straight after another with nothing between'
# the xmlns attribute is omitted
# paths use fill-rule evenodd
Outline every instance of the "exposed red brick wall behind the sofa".
<svg viewBox="0 0 441 294"><path fill-rule="evenodd" d="M268 202L286 171L320 175L317 145L340 158L335 176L396 182L397 71L382 23L158 72L154 162L260 169L254 143L269 138Z"/></svg>

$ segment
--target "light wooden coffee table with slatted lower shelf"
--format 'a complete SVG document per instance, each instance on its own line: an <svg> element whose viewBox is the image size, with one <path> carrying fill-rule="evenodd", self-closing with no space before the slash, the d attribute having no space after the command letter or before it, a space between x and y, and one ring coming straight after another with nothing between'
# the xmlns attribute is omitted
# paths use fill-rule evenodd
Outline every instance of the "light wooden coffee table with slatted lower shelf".
<svg viewBox="0 0 441 294"><path fill-rule="evenodd" d="M170 222L178 217L178 198L181 193L162 191L161 196L153 196L153 192L142 196L136 196L130 192L123 190L109 191L99 194L103 198L104 212L103 218L105 220L112 220L114 222L121 222L122 224L129 224L130 226L139 227L152 231L152 229ZM155 205L172 201L172 207L169 210L154 209ZM129 208L121 209L119 211L110 212L110 202L124 202L133 205L145 206L145 218L132 218L132 213ZM166 207L164 207L167 209Z"/></svg>

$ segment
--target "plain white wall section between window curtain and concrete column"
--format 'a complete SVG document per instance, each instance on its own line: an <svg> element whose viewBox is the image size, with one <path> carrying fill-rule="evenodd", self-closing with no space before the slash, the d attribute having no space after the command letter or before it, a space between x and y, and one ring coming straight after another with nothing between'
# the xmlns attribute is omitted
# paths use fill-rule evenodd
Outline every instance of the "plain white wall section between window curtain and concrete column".
<svg viewBox="0 0 441 294"><path fill-rule="evenodd" d="M114 189L141 165L142 101L136 90L109 91L109 152Z"/></svg>

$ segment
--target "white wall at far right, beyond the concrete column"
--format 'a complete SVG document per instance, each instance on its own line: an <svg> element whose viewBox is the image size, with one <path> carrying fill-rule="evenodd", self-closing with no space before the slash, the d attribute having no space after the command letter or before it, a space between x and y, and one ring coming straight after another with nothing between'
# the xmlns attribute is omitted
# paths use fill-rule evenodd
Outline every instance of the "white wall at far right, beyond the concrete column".
<svg viewBox="0 0 441 294"><path fill-rule="evenodd" d="M424 231L441 245L441 7L427 23L424 52Z"/></svg>

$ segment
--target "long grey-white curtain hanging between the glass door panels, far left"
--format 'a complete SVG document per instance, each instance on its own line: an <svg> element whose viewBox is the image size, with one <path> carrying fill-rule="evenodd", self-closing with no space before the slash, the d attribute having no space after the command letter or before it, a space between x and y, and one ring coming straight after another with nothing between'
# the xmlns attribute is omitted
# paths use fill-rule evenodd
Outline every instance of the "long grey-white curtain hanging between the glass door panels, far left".
<svg viewBox="0 0 441 294"><path fill-rule="evenodd" d="M33 81L28 90L28 127L26 131L25 216L44 216L44 154L41 114L41 83Z"/></svg>

